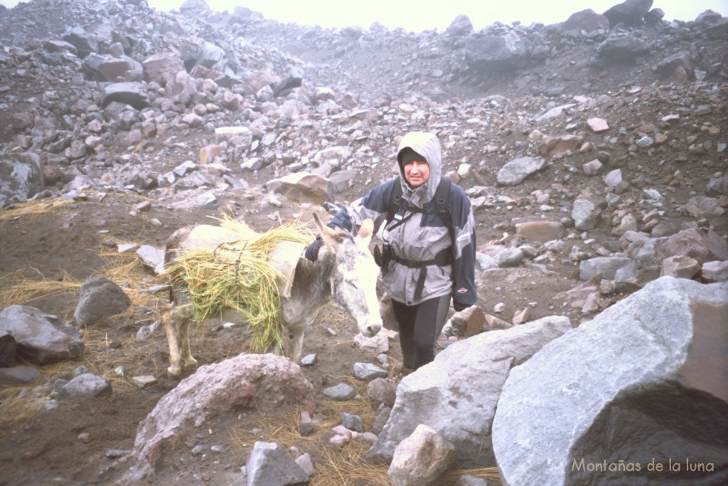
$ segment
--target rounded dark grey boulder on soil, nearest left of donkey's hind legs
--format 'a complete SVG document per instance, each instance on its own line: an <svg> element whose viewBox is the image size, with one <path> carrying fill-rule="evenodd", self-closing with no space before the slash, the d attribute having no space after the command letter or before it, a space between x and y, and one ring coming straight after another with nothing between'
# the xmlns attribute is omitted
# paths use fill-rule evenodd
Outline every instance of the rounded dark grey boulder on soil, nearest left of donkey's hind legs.
<svg viewBox="0 0 728 486"><path fill-rule="evenodd" d="M90 326L104 318L127 310L132 304L124 289L103 277L92 277L81 285L81 296L74 318L81 326Z"/></svg>

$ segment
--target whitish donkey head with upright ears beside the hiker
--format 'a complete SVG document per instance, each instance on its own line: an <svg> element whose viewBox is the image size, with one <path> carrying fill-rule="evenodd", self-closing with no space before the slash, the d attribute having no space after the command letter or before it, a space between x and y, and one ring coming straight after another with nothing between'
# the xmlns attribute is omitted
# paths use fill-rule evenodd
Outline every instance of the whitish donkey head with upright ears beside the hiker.
<svg viewBox="0 0 728 486"><path fill-rule="evenodd" d="M348 232L332 230L315 213L314 216L324 246L331 250L327 253L333 256L333 299L355 318L362 334L372 337L381 329L379 298L376 296L379 267L368 248L374 222L366 219L359 233L352 237Z"/></svg>

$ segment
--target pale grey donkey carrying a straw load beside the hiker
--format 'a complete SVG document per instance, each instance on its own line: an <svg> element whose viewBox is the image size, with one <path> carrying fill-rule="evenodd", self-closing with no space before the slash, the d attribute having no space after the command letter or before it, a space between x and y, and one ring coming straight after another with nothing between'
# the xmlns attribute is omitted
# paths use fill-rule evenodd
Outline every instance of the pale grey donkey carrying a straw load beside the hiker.
<svg viewBox="0 0 728 486"><path fill-rule="evenodd" d="M301 256L296 264L290 297L280 296L284 352L293 361L301 358L306 327L316 320L319 310L332 298L349 312L366 337L376 335L382 325L376 294L379 267L368 249L374 223L371 219L365 220L358 234L352 236L343 230L325 226L315 213L314 220L323 240L318 258L311 262ZM165 264L184 251L194 232L204 235L196 240L195 248L200 248L200 241L204 248L209 249L226 243L226 240L215 237L215 229L218 228L198 225L176 231L167 242ZM191 302L186 291L178 285L173 283L170 286L170 308L162 319L170 346L167 375L172 378L180 377L183 367L197 367L197 360L192 357L189 348ZM241 316L234 312L226 313L225 318L241 321Z"/></svg>

